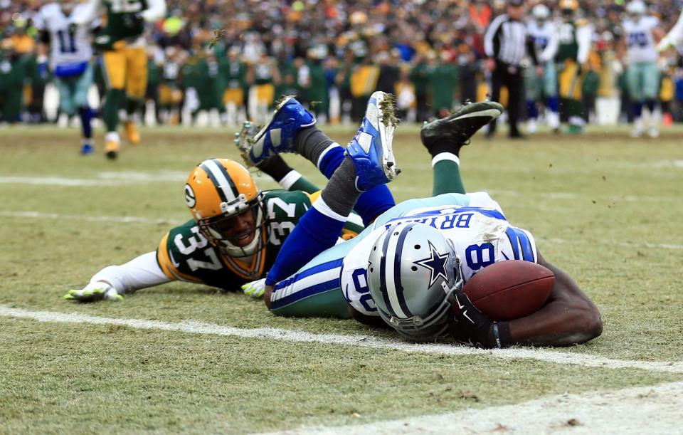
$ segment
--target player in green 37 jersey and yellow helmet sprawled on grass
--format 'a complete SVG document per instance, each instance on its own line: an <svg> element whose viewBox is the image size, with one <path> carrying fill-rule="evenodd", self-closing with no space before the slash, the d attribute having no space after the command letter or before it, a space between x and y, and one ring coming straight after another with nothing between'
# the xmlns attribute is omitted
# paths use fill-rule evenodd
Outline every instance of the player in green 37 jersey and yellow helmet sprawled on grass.
<svg viewBox="0 0 683 435"><path fill-rule="evenodd" d="M287 167L280 183L292 189L313 185ZM283 168L290 169L289 171ZM208 159L190 173L185 203L193 219L167 232L157 251L120 266L107 266L85 288L70 290L65 299L80 302L122 300L125 293L171 281L239 290L265 276L280 246L319 192L275 189L261 191L251 174L230 159ZM349 220L340 236L358 234L363 226Z"/></svg>

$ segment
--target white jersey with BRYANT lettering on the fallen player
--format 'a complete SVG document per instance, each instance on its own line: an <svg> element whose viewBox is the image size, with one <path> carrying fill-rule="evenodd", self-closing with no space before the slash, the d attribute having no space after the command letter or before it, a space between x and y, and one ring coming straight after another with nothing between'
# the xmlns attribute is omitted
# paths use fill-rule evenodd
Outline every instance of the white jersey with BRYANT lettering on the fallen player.
<svg viewBox="0 0 683 435"><path fill-rule="evenodd" d="M354 246L344 258L342 291L344 298L365 315L378 315L366 279L368 258L375 241L392 226L420 222L439 229L455 247L460 258L462 278L467 282L478 271L493 263L524 260L536 263L534 236L512 226L497 203L495 206L436 206L414 209L391 219ZM473 201L474 204L474 201Z"/></svg>

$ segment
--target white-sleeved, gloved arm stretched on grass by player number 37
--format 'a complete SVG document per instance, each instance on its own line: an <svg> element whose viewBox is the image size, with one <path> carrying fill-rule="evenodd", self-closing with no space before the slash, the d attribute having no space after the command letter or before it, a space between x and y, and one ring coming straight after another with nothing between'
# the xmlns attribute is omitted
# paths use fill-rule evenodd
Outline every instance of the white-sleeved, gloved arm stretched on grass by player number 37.
<svg viewBox="0 0 683 435"><path fill-rule="evenodd" d="M90 278L88 285L69 290L64 298L78 302L122 300L125 293L170 281L171 278L164 274L157 263L157 253L152 251L121 266L103 268Z"/></svg>

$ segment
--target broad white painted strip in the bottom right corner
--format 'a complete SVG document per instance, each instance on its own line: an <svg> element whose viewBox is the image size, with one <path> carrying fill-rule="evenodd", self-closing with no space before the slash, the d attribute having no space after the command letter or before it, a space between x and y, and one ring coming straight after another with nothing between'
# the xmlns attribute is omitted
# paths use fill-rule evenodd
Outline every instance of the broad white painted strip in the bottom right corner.
<svg viewBox="0 0 683 435"><path fill-rule="evenodd" d="M400 400L400 397L396 398ZM274 434L680 434L683 382L561 394L520 404Z"/></svg>

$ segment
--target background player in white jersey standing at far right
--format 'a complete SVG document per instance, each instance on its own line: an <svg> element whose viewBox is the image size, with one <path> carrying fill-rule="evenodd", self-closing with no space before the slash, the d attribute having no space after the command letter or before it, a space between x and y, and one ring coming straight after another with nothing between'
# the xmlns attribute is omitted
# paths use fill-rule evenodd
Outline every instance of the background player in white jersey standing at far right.
<svg viewBox="0 0 683 435"><path fill-rule="evenodd" d="M619 57L627 64L626 81L633 110L631 137L642 136L644 125L643 106L650 112L647 134L657 137L655 104L660 92L660 70L657 68L655 45L664 37L659 20L647 15L647 6L642 0L633 0L628 6L628 19L623 21L624 36L619 45Z"/></svg>

